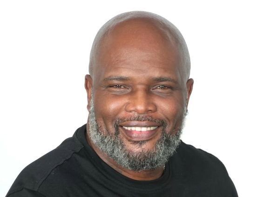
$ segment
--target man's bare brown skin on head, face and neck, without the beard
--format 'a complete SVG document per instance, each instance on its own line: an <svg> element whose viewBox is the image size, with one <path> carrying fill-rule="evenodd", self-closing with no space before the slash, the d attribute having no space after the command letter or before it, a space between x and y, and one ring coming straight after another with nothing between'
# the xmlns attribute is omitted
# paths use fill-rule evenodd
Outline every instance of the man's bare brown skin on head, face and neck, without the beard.
<svg viewBox="0 0 256 197"><path fill-rule="evenodd" d="M85 88L88 109L93 98L102 131L114 135L117 119L135 117L162 119L167 133L179 130L193 88L184 43L175 26L152 13L124 13L101 28L92 47ZM130 134L122 127L133 125L158 127L148 135ZM122 122L119 129L126 148L133 152L153 150L162 131L152 122L130 120ZM100 151L88 133L86 138L99 157L124 176L153 180L163 173L163 166L148 171L125 169ZM135 142L139 141L146 143L138 146Z"/></svg>

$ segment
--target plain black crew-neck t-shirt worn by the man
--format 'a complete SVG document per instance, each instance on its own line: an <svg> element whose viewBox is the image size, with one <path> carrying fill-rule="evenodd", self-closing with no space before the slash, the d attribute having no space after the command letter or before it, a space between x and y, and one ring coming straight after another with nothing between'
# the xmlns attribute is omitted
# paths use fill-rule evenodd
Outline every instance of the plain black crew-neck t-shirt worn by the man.
<svg viewBox="0 0 256 197"><path fill-rule="evenodd" d="M86 125L29 164L7 197L237 197L224 165L181 142L162 177L136 181L104 163L88 145Z"/></svg>

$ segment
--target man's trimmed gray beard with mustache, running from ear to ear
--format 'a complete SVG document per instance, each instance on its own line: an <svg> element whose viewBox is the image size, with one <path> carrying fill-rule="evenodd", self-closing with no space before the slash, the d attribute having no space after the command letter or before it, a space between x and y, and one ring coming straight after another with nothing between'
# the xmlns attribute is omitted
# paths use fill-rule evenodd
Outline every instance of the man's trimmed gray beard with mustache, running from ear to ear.
<svg viewBox="0 0 256 197"><path fill-rule="evenodd" d="M131 171L146 171L153 170L159 167L163 167L169 157L174 153L178 145L180 144L180 136L182 134L182 128L184 126L184 120L186 113L182 119L182 125L178 129L176 134L167 134L165 131L166 123L163 120L136 117L133 119L116 120L114 125L115 134L111 134L106 128L100 128L95 118L93 98L91 99L89 109L89 137L91 141L99 148L102 152L106 153L108 157L115 160L115 162L122 167ZM141 151L130 151L127 149L123 140L120 138L119 123L127 120L137 121L151 121L157 122L162 125L161 138L156 142L155 148L150 151L141 149ZM105 134L104 134L105 133ZM132 144L141 147L141 145L147 143L147 141L132 141Z"/></svg>

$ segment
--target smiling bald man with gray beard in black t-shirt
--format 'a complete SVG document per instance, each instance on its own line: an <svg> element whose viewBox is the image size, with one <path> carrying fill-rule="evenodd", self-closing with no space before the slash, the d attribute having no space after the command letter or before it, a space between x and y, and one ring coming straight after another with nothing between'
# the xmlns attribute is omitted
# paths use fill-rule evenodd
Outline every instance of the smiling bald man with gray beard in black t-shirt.
<svg viewBox="0 0 256 197"><path fill-rule="evenodd" d="M97 33L88 124L28 165L7 197L237 197L224 165L180 140L193 79L182 34L130 12Z"/></svg>

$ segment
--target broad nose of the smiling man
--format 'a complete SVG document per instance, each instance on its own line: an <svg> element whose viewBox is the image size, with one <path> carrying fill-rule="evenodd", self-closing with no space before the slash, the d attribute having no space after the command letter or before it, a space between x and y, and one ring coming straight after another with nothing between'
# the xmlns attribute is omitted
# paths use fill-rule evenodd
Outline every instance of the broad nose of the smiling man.
<svg viewBox="0 0 256 197"><path fill-rule="evenodd" d="M125 105L126 112L138 115L147 115L156 111L153 95L146 89L138 89L130 92L128 103Z"/></svg>

